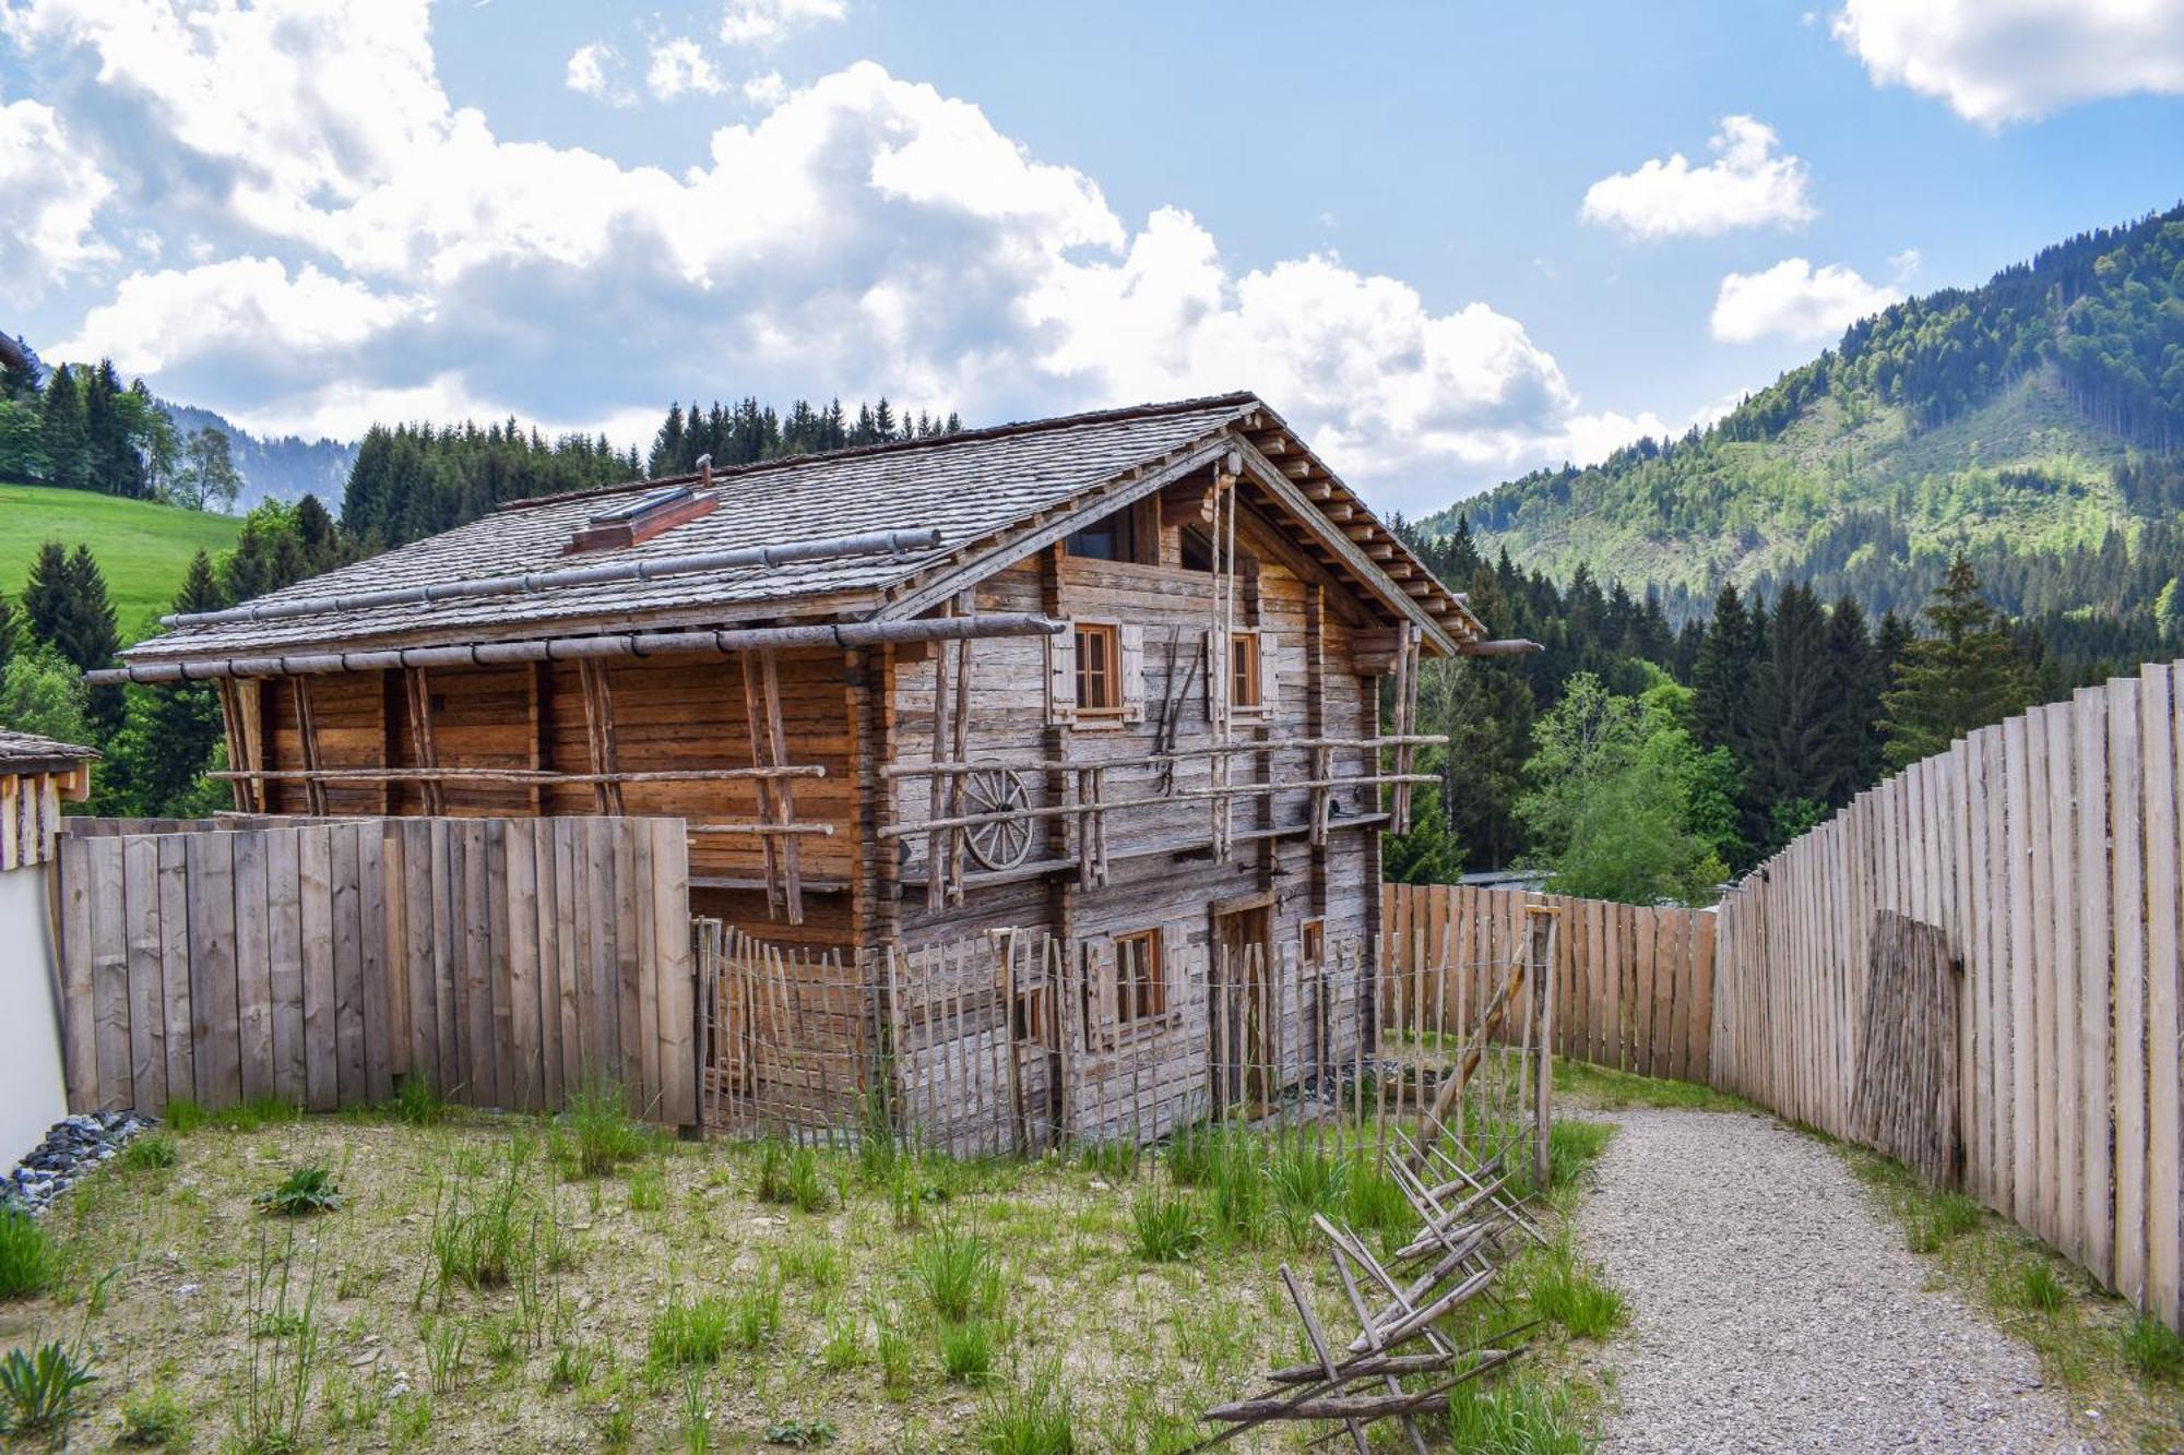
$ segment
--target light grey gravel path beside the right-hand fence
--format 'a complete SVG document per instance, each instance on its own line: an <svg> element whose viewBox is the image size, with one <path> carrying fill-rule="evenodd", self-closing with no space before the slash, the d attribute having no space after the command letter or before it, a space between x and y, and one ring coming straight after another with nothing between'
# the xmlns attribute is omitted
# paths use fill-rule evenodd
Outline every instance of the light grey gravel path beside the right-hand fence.
<svg viewBox="0 0 2184 1455"><path fill-rule="evenodd" d="M2038 1357L1950 1293L1821 1143L1618 1112L1579 1212L1631 1328L1603 1455L2086 1451Z"/></svg>

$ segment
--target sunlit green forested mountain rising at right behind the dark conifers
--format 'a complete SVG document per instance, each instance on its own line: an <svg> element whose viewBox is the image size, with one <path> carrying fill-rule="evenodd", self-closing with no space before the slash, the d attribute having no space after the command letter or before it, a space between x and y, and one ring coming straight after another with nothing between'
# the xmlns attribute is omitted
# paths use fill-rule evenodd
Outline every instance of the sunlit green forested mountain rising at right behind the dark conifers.
<svg viewBox="0 0 2184 1455"><path fill-rule="evenodd" d="M1852 326L1708 430L1540 470L1417 522L1568 579L1913 612L1963 551L2011 616L2125 651L2184 572L2184 208ZM2167 596L2164 596L2167 592ZM2116 636L2121 634L2121 636Z"/></svg>

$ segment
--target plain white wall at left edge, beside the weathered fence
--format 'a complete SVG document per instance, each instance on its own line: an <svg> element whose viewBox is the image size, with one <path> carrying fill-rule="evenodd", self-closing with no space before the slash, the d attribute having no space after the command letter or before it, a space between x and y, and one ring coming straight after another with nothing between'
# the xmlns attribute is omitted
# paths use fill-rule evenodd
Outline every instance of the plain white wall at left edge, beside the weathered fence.
<svg viewBox="0 0 2184 1455"><path fill-rule="evenodd" d="M68 1114L46 874L0 870L0 1171Z"/></svg>

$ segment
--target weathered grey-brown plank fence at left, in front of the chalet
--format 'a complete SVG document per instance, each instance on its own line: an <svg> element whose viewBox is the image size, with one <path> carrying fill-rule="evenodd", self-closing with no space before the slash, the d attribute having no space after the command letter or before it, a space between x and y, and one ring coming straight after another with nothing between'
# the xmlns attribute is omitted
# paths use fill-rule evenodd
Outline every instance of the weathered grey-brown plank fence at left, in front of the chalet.
<svg viewBox="0 0 2184 1455"><path fill-rule="evenodd" d="M408 1075L550 1110L601 1075L699 1119L681 819L70 824L74 1110L334 1110Z"/></svg>

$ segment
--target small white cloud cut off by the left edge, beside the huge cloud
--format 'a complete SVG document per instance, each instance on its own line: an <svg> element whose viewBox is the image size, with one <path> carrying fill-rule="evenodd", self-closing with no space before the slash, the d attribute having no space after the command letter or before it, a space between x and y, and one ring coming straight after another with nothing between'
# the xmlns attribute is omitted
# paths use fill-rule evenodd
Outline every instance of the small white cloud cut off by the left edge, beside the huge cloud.
<svg viewBox="0 0 2184 1455"><path fill-rule="evenodd" d="M44 288L94 262L114 245L92 232L92 218L114 194L98 164L74 149L59 114L37 100L0 105L0 277Z"/></svg>

